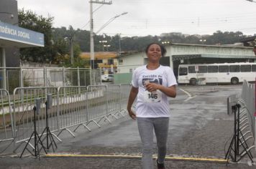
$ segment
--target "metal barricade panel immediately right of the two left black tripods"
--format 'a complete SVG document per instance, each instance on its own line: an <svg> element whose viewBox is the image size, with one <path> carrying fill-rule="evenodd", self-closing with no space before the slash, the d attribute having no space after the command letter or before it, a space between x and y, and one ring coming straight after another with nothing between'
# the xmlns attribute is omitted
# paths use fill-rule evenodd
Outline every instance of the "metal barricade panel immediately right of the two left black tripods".
<svg viewBox="0 0 256 169"><path fill-rule="evenodd" d="M75 135L68 128L81 125L88 121L86 116L85 86L58 87L58 128L60 135L63 130Z"/></svg>

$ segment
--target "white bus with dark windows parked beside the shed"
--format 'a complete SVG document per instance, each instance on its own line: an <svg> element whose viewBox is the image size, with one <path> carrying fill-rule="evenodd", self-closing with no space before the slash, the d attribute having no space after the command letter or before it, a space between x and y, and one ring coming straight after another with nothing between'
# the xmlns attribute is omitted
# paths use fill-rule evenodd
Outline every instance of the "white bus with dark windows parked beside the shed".
<svg viewBox="0 0 256 169"><path fill-rule="evenodd" d="M221 64L180 64L178 83L196 84L198 79L205 83L231 83L255 81L256 63L221 63Z"/></svg>

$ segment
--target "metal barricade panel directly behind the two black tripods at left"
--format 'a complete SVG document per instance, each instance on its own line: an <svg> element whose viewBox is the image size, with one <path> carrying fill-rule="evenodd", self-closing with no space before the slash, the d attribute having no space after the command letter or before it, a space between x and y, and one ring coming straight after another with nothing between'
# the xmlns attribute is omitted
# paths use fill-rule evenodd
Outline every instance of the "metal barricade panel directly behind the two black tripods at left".
<svg viewBox="0 0 256 169"><path fill-rule="evenodd" d="M52 107L48 110L48 127L51 132L58 130L57 88L56 87L18 87L14 90L14 136L20 143L29 139L34 131L35 99L41 99L40 113L36 115L36 129L42 133L45 129L45 114L47 94L52 94ZM39 108L39 107L37 107Z"/></svg>

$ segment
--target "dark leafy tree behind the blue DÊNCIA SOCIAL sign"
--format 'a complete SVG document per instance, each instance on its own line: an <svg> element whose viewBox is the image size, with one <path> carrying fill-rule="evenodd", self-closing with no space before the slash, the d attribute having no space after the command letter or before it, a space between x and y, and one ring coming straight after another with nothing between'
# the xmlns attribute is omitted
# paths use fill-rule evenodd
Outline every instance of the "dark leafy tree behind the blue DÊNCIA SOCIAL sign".
<svg viewBox="0 0 256 169"><path fill-rule="evenodd" d="M53 63L58 61L60 55L65 54L63 42L56 42L52 39L53 17L38 16L30 10L19 10L19 26L44 34L45 47L24 48L20 50L22 60L30 62Z"/></svg>

